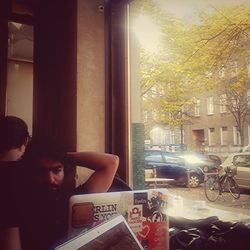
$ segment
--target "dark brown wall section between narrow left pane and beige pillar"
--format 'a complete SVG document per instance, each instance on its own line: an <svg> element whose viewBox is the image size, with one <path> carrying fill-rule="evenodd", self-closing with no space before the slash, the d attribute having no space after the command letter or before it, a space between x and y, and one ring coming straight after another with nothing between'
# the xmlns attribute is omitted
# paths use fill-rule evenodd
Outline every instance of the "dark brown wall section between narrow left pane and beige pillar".
<svg viewBox="0 0 250 250"><path fill-rule="evenodd" d="M33 134L76 147L76 1L35 10Z"/></svg>

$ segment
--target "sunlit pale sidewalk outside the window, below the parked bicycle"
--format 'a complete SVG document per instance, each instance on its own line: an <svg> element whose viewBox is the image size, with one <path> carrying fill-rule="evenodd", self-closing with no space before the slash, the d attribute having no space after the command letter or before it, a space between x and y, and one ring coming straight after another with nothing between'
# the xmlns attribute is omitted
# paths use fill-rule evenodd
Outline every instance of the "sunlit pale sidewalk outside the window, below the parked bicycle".
<svg viewBox="0 0 250 250"><path fill-rule="evenodd" d="M229 193L220 196L217 201L210 202L206 199L204 187L185 188L171 185L171 182L151 183L148 188L167 188L172 197L181 198L169 204L169 212L174 216L182 216L190 219L218 216L224 221L250 222L250 192L241 193L240 198L235 200ZM204 208L197 208L199 203Z"/></svg>

